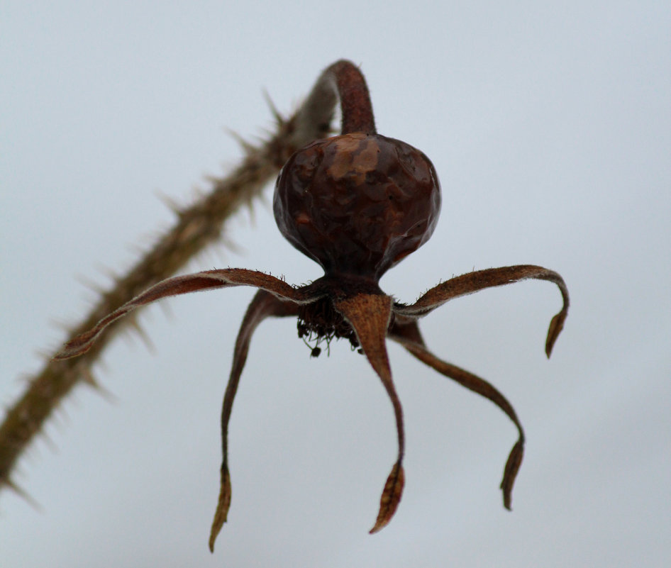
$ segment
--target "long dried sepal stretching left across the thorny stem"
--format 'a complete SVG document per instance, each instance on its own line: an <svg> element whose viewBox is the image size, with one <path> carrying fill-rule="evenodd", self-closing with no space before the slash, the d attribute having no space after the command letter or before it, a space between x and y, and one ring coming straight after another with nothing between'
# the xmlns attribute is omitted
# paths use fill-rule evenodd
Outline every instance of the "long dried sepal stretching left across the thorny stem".
<svg viewBox="0 0 671 568"><path fill-rule="evenodd" d="M135 296L131 301L110 313L109 316L102 318L94 328L65 343L53 359L55 361L70 359L70 357L77 357L77 355L87 352L108 325L140 306L151 304L169 296L231 286L256 286L287 300L304 301L303 294L299 289L289 286L287 282L270 276L270 274L256 270L226 268L168 278L155 284L139 296Z"/></svg>

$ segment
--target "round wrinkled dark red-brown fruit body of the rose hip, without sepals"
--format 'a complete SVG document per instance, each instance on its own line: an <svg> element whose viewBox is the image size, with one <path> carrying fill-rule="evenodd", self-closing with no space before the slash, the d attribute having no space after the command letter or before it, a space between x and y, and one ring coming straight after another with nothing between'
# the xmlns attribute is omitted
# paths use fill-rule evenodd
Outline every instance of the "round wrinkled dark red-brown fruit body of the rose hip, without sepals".
<svg viewBox="0 0 671 568"><path fill-rule="evenodd" d="M275 221L326 274L377 280L426 243L438 222L433 164L409 144L350 133L316 140L282 168Z"/></svg>

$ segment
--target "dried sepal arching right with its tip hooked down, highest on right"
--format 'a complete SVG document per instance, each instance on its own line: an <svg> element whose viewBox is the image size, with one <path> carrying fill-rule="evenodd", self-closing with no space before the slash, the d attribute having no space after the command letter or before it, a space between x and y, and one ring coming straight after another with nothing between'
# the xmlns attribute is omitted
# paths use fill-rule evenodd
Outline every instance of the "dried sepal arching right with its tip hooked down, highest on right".
<svg viewBox="0 0 671 568"><path fill-rule="evenodd" d="M420 318L442 306L445 302L460 296L473 294L474 292L492 288L494 286L513 284L514 282L520 282L521 280L526 279L547 280L548 282L553 282L554 284L557 284L562 293L562 309L550 322L548 338L545 341L545 354L550 357L550 352L552 352L555 341L557 340L566 316L568 315L568 289L564 279L557 272L540 266L534 266L533 264L518 264L516 266L488 268L462 274L447 282L438 284L438 286L433 286L431 290L427 291L426 294L423 294L420 299L410 306L396 304L394 306L394 313L411 318Z"/></svg>

